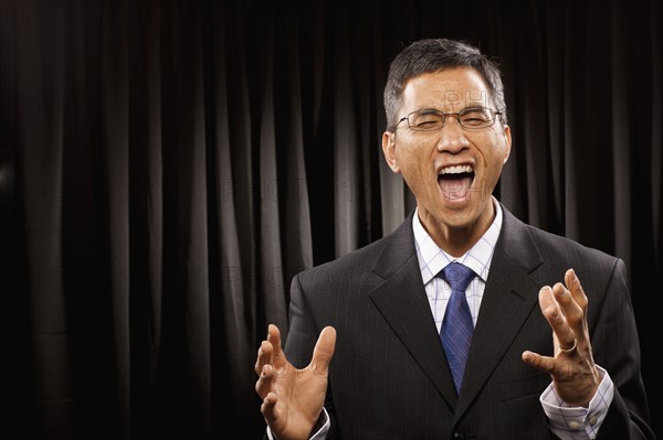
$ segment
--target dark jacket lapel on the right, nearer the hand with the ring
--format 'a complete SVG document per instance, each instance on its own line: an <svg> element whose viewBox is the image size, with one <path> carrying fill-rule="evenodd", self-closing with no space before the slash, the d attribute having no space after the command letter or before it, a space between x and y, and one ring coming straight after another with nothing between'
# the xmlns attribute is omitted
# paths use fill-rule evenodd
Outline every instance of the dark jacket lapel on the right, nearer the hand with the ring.
<svg viewBox="0 0 663 440"><path fill-rule="evenodd" d="M538 304L529 273L543 264L525 225L503 206L504 223L474 331L456 419L470 407Z"/></svg>

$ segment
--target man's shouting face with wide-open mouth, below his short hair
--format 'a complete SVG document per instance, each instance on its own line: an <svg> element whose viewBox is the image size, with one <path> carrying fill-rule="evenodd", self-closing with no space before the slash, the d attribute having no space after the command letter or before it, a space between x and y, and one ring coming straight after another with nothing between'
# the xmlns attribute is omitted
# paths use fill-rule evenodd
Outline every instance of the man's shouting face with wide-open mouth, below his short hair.
<svg viewBox="0 0 663 440"><path fill-rule="evenodd" d="M488 87L478 72L455 67L410 79L400 116L470 107L494 108ZM487 228L493 219L491 194L511 150L511 131L499 116L480 129L461 127L456 117L446 116L442 129L434 131L414 131L403 120L393 132L385 132L382 150L391 170L401 173L414 193L429 233Z"/></svg>

